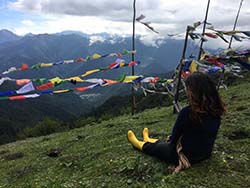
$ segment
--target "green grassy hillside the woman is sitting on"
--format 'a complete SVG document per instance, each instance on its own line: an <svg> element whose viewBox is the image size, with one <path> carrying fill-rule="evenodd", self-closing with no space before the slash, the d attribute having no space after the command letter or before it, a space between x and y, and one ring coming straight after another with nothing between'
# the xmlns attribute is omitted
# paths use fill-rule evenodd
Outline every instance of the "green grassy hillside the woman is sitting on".
<svg viewBox="0 0 250 188"><path fill-rule="evenodd" d="M0 187L250 187L249 90L245 82L222 91L228 113L213 156L191 169L172 175L128 143L129 129L139 138L144 127L159 138L170 132L172 107L155 108L0 146Z"/></svg>

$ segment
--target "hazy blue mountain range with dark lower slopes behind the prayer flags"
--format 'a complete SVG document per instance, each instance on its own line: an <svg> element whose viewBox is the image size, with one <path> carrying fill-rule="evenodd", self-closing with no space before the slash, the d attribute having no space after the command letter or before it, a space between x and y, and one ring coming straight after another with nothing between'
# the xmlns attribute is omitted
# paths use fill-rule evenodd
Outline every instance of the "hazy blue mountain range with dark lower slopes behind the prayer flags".
<svg viewBox="0 0 250 188"><path fill-rule="evenodd" d="M173 70L181 56L183 40L171 38L155 40L153 45L145 44L143 36L136 36L135 47L137 53L135 60L141 64L135 67L136 75L157 76ZM121 52L124 49L131 50L131 36L110 35L100 33L88 35L75 31L64 31L56 34L27 34L18 36L8 30L0 31L0 72L10 67L20 67L25 63L29 66L38 63L50 63L60 60L86 57L94 53L107 54ZM193 43L189 49L194 49ZM189 50L188 53L191 53ZM131 56L124 56L126 62L131 61ZM60 65L50 68L27 70L10 73L11 78L61 78L81 75L84 72L104 68L113 63L116 58L104 58L86 63ZM111 70L93 74L86 78L116 79L122 74L131 75L131 68ZM4 75L1 75L4 76ZM76 87L66 85L63 88ZM16 89L13 83L6 82L0 87L0 91ZM44 117L51 117L63 121L77 118L89 113L100 106L112 96L129 95L130 85L118 84L111 87L99 87L83 93L62 94L61 96L41 96L27 101L1 101L0 126L1 132L6 125L11 125L11 131L16 131L17 126L33 126ZM21 124L21 125L19 125ZM9 126L9 127L11 127ZM2 127L2 130L1 130ZM12 130L13 129L13 130Z"/></svg>

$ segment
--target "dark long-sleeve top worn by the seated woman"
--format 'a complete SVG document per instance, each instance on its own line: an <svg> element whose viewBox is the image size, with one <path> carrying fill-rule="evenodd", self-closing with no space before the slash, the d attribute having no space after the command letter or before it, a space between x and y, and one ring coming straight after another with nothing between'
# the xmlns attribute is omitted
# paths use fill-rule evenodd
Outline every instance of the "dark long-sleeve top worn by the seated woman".
<svg viewBox="0 0 250 188"><path fill-rule="evenodd" d="M190 106L184 107L175 122L170 144L176 146L182 136L183 153L191 162L209 158L220 127L220 117L203 115L202 123L193 123L189 117Z"/></svg>

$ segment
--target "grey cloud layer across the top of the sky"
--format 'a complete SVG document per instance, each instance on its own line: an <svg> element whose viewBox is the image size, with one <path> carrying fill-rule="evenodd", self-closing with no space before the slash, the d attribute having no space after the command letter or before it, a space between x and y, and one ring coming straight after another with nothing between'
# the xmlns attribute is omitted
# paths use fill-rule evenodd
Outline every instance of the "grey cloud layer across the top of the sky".
<svg viewBox="0 0 250 188"><path fill-rule="evenodd" d="M10 3L9 7L42 14L92 16L109 21L131 22L132 3L126 0L17 0ZM136 1L137 15L143 13L156 24L177 24L178 29L183 29L185 25L197 20L203 20L206 5L207 1L201 0ZM249 1L243 2L239 25L244 25L249 20L249 6ZM208 20L223 27L232 25L238 7L239 1L213 0Z"/></svg>

